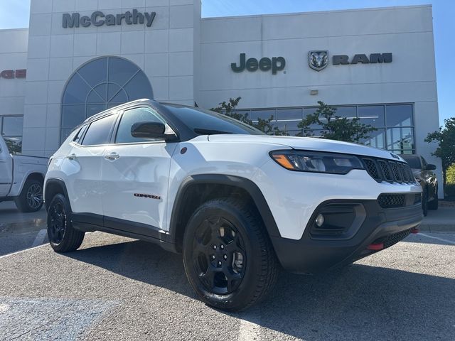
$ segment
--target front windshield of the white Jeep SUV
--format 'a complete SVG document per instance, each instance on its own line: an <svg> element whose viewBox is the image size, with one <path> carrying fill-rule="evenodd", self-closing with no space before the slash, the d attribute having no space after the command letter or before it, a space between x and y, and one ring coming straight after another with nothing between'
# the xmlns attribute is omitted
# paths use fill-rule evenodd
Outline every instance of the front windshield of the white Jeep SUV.
<svg viewBox="0 0 455 341"><path fill-rule="evenodd" d="M180 107L172 104L163 104L189 129L198 135L214 134L249 134L264 135L260 130L253 128L237 119L210 112L209 110L191 107Z"/></svg>

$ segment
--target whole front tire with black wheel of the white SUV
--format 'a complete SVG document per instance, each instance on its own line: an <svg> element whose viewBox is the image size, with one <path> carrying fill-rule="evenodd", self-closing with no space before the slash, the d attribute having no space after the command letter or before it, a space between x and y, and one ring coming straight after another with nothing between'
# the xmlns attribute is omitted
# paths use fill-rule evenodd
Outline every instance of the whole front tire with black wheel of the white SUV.
<svg viewBox="0 0 455 341"><path fill-rule="evenodd" d="M230 198L210 200L194 212L183 237L183 265L202 301L228 311L262 301L279 271L255 207Z"/></svg>

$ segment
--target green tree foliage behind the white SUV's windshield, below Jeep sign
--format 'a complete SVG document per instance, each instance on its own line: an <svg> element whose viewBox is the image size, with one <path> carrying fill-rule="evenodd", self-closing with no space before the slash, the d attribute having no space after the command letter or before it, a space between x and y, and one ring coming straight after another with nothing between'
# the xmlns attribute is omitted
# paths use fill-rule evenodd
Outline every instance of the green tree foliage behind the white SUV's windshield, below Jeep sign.
<svg viewBox="0 0 455 341"><path fill-rule="evenodd" d="M221 102L218 107L212 108L213 112L219 112L220 114L225 114L228 117L232 117L233 119L237 119L238 121L242 121L249 126L254 126L256 129L260 131L264 131L265 134L268 135L289 135L287 131L282 131L277 128L277 126L272 125L273 115L269 117L269 119L257 119L257 122L252 121L248 114L240 114L239 112L235 111L235 108L240 102L242 97L237 98L230 98L229 102Z"/></svg>

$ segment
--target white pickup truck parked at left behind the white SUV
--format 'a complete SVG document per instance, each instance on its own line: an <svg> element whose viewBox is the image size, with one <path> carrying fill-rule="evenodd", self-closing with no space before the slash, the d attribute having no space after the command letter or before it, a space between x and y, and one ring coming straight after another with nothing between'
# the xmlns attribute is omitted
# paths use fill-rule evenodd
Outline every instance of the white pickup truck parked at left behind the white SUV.
<svg viewBox="0 0 455 341"><path fill-rule="evenodd" d="M0 136L0 202L14 200L21 212L43 206L43 183L48 158L11 155Z"/></svg>

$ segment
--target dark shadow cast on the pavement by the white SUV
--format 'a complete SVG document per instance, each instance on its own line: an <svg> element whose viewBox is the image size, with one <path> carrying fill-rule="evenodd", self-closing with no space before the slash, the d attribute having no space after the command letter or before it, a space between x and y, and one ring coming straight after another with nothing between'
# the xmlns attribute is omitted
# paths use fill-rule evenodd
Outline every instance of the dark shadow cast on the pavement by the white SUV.
<svg viewBox="0 0 455 341"><path fill-rule="evenodd" d="M196 298L180 255L145 242L67 254L137 281ZM455 280L354 264L317 276L285 271L272 295L229 314L305 340L453 340Z"/></svg>

